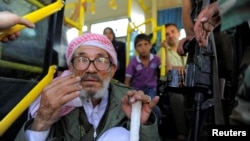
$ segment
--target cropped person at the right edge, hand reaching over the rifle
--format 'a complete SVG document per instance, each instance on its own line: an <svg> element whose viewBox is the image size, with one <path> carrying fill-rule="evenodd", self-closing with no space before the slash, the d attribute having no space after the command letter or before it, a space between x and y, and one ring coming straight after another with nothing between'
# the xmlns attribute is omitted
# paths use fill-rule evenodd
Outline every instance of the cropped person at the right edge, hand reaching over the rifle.
<svg viewBox="0 0 250 141"><path fill-rule="evenodd" d="M236 104L230 115L229 124L250 125L250 15L249 0L226 1L218 0L205 7L197 17L194 33L201 47L208 43L208 36L221 23L220 32L232 27L236 28L234 44L234 62L237 62ZM217 47L218 48L218 47ZM223 47L221 47L223 48ZM248 108L247 108L248 107Z"/></svg>

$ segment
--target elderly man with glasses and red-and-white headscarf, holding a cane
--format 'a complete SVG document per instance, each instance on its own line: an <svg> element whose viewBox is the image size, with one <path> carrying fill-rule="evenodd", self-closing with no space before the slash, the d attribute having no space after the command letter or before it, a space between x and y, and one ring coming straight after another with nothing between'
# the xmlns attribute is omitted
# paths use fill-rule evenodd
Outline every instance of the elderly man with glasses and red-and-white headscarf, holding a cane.
<svg viewBox="0 0 250 141"><path fill-rule="evenodd" d="M128 141L136 101L142 101L140 140L159 140L152 113L159 97L151 101L142 91L110 82L117 57L108 38L92 33L77 37L69 44L66 59L69 70L43 89L37 114L16 140Z"/></svg>

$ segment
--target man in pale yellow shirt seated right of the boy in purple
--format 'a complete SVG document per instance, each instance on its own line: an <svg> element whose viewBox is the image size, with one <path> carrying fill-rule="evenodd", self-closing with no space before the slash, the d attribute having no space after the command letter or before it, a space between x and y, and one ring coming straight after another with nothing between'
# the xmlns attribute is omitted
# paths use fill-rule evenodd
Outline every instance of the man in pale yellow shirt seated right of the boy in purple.
<svg viewBox="0 0 250 141"><path fill-rule="evenodd" d="M166 48L166 57L168 57L167 59L169 60L171 66L169 68L178 71L183 70L187 59L185 56L180 56L177 53L180 31L174 23L166 24L165 31L166 40L162 43L162 46ZM178 132L177 139L185 140L188 131L185 118L184 96L180 93L174 93L171 91L168 91L167 93Z"/></svg>

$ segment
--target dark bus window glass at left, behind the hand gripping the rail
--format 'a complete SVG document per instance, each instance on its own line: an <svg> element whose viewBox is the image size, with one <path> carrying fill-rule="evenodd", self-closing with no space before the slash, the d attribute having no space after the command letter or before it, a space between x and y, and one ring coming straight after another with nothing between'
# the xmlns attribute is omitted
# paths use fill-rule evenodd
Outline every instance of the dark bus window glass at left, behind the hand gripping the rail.
<svg viewBox="0 0 250 141"><path fill-rule="evenodd" d="M50 0L42 1L43 6ZM28 1L0 1L0 11L19 16L28 15L42 7ZM35 28L24 28L21 36L8 43L0 42L0 77L35 80L43 72L48 18L35 23Z"/></svg>

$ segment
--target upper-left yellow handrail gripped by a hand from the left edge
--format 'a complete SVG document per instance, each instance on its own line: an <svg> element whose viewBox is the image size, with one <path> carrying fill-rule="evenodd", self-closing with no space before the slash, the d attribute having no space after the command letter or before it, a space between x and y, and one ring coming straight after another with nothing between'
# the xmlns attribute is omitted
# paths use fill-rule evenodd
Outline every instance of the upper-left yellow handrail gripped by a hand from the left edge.
<svg viewBox="0 0 250 141"><path fill-rule="evenodd" d="M30 20L33 23L36 23L36 22L50 16L51 14L54 14L57 11L60 11L63 6L64 6L64 1L57 0L56 2L54 2L48 6L45 6L45 7L40 8L32 13L25 15L24 18ZM24 25L16 25L10 29L7 29L7 30L4 30L3 32L0 32L0 40L2 40L4 37L6 37L8 35L11 35L17 31L22 30L23 28L25 28Z"/></svg>

